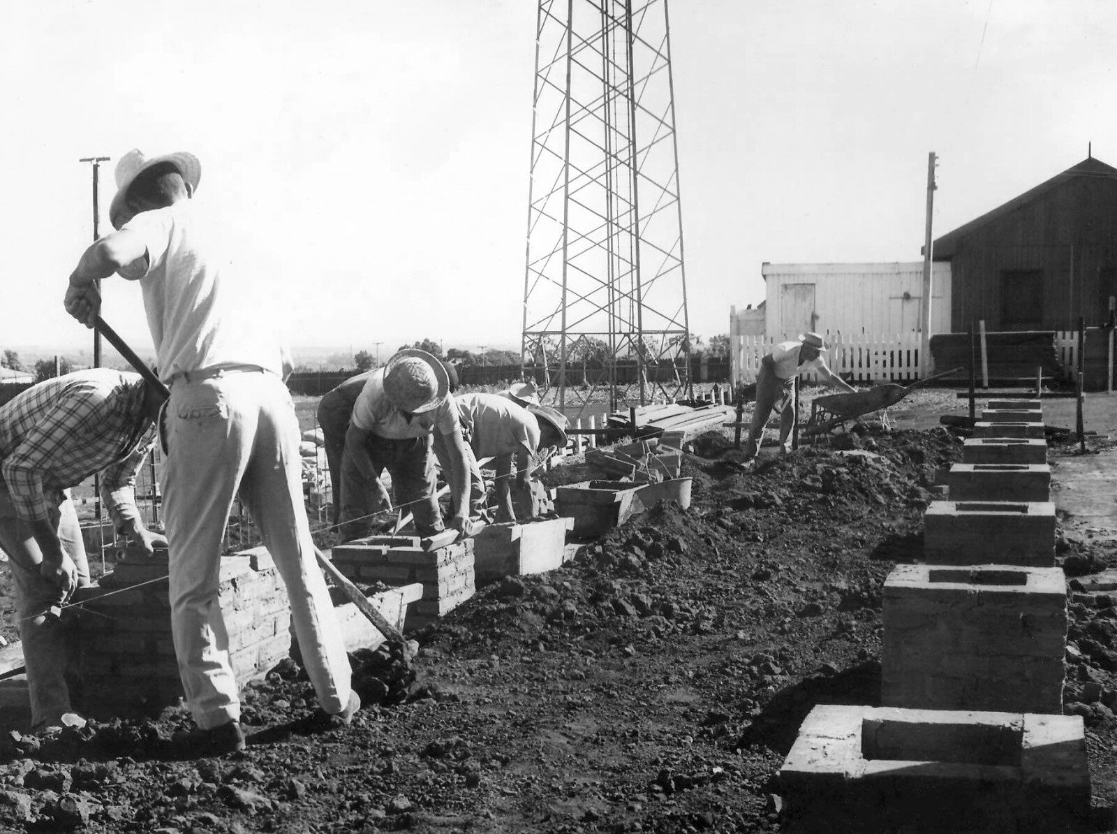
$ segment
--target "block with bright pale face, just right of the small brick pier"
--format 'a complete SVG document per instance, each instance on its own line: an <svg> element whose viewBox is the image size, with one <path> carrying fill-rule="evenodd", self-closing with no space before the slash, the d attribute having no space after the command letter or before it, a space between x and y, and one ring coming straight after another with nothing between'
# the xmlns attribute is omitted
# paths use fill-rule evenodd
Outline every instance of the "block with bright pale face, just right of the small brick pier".
<svg viewBox="0 0 1117 834"><path fill-rule="evenodd" d="M573 527L574 519L566 516L523 524L488 524L474 538L477 585L562 567L566 532Z"/></svg>

